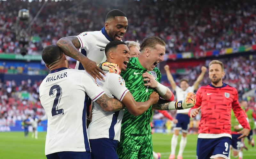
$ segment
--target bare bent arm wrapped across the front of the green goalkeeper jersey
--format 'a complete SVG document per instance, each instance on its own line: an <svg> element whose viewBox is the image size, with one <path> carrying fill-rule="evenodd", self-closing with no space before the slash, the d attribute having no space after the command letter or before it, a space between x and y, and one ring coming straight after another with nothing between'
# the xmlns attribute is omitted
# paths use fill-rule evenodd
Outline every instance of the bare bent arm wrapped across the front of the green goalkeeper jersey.
<svg viewBox="0 0 256 159"><path fill-rule="evenodd" d="M127 110L131 113L131 115L138 116L143 114L148 108L156 104L159 100L159 95L155 91L152 92L149 96L149 99L145 102L136 102L131 94L130 91L128 91L124 99L122 100L122 103L125 105Z"/></svg>

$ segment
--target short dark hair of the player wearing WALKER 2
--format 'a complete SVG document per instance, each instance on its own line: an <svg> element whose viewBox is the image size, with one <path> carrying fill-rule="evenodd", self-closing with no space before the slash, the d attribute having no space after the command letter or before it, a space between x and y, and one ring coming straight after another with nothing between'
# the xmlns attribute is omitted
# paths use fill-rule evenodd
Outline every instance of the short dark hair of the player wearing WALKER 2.
<svg viewBox="0 0 256 159"><path fill-rule="evenodd" d="M42 59L46 65L50 65L53 62L59 60L63 56L63 52L57 45L48 45L42 51Z"/></svg>

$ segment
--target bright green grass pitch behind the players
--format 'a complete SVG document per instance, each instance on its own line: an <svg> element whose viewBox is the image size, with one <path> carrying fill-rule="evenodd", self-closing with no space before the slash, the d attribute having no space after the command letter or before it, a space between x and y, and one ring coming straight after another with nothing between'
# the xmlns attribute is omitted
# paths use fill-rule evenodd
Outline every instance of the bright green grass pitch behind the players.
<svg viewBox="0 0 256 159"><path fill-rule="evenodd" d="M45 136L46 132L39 132L38 139L33 139L31 132L27 138L24 137L23 132L0 132L0 159L46 159L44 155ZM168 159L171 152L171 139L172 134L153 134L154 151L161 153L161 159ZM254 139L256 141L255 136ZM196 158L196 140L197 135L188 135L183 159ZM244 159L256 159L256 147L248 146L247 139L245 139L245 144L249 150L244 150ZM178 150L179 144L176 154ZM231 157L231 159L234 158Z"/></svg>

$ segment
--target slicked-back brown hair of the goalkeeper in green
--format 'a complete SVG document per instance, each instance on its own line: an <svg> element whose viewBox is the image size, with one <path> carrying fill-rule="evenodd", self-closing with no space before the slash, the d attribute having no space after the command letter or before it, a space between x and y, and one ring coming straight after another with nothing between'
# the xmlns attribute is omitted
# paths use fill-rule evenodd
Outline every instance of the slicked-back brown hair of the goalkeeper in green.
<svg viewBox="0 0 256 159"><path fill-rule="evenodd" d="M144 47L151 47L155 48L156 44L160 44L162 46L165 46L165 42L163 39L161 39L158 36L148 36L142 40L142 43L140 45L140 50L143 50Z"/></svg>

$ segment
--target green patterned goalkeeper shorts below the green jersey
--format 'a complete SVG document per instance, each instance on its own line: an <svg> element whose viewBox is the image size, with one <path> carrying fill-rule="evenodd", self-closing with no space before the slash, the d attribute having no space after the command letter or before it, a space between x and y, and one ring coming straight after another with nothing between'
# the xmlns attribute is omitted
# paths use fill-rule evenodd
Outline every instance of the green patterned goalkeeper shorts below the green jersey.
<svg viewBox="0 0 256 159"><path fill-rule="evenodd" d="M117 146L119 159L152 159L152 135L122 134Z"/></svg>

